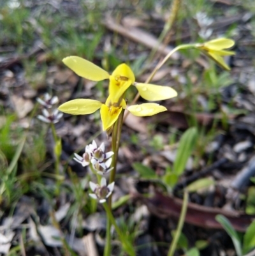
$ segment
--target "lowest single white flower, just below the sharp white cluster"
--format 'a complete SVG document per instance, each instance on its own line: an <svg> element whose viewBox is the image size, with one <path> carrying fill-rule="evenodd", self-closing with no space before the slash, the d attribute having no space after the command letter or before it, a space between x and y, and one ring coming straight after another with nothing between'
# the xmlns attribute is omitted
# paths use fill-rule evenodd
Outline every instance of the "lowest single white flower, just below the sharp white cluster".
<svg viewBox="0 0 255 256"><path fill-rule="evenodd" d="M94 192L89 193L89 196L92 197L93 199L98 199L99 202L103 204L103 202L106 202L106 199L113 192L114 182L106 186L106 179L105 177L102 177L100 185L90 181L89 186L91 187L92 192Z"/></svg>

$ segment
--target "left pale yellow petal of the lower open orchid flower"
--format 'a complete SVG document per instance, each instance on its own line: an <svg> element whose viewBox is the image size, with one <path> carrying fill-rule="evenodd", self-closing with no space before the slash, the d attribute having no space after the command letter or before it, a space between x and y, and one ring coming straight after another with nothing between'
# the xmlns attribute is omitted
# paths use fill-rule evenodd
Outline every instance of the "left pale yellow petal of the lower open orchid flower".
<svg viewBox="0 0 255 256"><path fill-rule="evenodd" d="M59 106L59 110L72 115L86 115L100 109L102 103L98 100L76 99Z"/></svg>

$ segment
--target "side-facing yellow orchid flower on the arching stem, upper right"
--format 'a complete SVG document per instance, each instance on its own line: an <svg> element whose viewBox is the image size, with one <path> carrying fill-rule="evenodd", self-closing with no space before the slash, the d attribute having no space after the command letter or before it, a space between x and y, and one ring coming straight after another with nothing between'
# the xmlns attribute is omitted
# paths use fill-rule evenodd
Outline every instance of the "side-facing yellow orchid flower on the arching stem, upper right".
<svg viewBox="0 0 255 256"><path fill-rule="evenodd" d="M218 38L215 40L207 41L206 43L196 44L196 48L200 49L205 55L210 57L224 70L230 70L230 67L224 62L222 56L234 55L235 52L225 50L232 47L235 41L228 38Z"/></svg>

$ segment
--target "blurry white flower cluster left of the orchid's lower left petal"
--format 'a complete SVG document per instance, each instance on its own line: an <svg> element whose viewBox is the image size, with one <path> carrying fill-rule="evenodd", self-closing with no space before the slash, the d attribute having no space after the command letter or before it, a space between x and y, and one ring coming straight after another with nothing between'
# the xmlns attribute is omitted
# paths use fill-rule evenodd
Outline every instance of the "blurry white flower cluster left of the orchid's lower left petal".
<svg viewBox="0 0 255 256"><path fill-rule="evenodd" d="M44 99L36 99L38 103L43 105L44 109L41 111L42 115L38 116L38 119L45 123L57 123L63 116L62 112L57 109L53 109L54 105L59 102L57 96L50 96L50 94L45 93Z"/></svg>

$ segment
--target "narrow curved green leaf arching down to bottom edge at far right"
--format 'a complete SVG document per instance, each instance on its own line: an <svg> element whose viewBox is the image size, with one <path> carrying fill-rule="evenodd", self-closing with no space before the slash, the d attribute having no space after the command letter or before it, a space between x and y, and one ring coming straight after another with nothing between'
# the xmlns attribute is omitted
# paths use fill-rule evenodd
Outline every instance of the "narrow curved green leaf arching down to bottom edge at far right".
<svg viewBox="0 0 255 256"><path fill-rule="evenodd" d="M217 222L221 223L222 227L224 227L224 229L226 230L228 235L231 237L233 244L235 246L235 251L237 252L237 255L242 256L241 241L238 237L237 232L231 225L230 221L223 215L217 215L215 217L215 220L217 220Z"/></svg>

